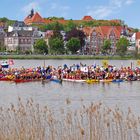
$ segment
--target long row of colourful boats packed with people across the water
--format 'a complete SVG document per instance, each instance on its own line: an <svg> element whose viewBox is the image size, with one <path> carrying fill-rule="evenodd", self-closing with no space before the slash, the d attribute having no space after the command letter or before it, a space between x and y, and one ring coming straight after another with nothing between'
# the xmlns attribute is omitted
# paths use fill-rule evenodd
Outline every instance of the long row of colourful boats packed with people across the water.
<svg viewBox="0 0 140 140"><path fill-rule="evenodd" d="M104 83L120 83L123 81L140 81L140 68L132 69L130 67L116 66L99 67L75 65L68 67L66 64L57 68L53 66L37 67L37 68L9 68L0 69L0 81L12 81L15 83L25 82L78 82L94 84Z"/></svg>

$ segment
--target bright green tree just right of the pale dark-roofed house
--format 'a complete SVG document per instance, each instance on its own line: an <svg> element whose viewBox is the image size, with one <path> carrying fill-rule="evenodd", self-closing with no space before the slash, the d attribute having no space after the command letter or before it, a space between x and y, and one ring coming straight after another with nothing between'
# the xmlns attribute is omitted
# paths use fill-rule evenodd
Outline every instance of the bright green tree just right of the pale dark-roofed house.
<svg viewBox="0 0 140 140"><path fill-rule="evenodd" d="M37 53L48 53L48 46L44 39L38 39L34 44L34 49Z"/></svg>

